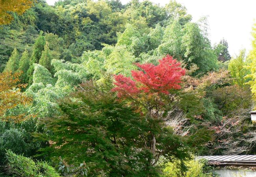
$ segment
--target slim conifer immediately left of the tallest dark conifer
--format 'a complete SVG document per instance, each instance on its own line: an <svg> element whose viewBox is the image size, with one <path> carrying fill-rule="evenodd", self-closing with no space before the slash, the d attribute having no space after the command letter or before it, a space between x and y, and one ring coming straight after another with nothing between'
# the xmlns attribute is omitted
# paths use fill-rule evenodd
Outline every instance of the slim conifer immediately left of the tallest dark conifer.
<svg viewBox="0 0 256 177"><path fill-rule="evenodd" d="M19 70L22 72L22 74L20 75L20 81L21 82L25 82L26 79L26 74L29 68L29 54L28 54L28 50L25 50L22 53L22 56L20 57L20 61L19 61Z"/></svg>

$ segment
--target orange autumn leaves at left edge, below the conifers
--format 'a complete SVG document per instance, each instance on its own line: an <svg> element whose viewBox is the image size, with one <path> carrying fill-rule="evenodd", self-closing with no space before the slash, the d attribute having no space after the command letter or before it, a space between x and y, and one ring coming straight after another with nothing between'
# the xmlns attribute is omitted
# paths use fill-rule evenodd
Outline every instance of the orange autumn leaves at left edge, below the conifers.
<svg viewBox="0 0 256 177"><path fill-rule="evenodd" d="M11 74L11 72L4 72L0 74L0 116L5 116L8 109L12 109L17 105L27 105L32 99L20 92L19 88L25 88L26 84L19 84L20 73ZM24 115L11 116L4 118L4 120L21 121Z"/></svg>

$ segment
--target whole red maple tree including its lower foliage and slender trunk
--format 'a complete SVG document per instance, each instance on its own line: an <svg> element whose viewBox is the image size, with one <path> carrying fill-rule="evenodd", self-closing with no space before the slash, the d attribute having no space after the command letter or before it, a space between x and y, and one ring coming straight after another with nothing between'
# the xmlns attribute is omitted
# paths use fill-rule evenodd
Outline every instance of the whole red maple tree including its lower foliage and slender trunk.
<svg viewBox="0 0 256 177"><path fill-rule="evenodd" d="M159 65L156 66L152 63L136 63L135 65L140 70L132 71L133 79L122 74L114 76L116 87L112 91L117 92L119 98L130 100L136 112L141 115L148 114L146 120L150 122L150 127L158 126L157 122L161 121L162 118L160 114L165 111L162 108L171 107L170 103L173 102L172 99L171 101L166 99L165 95L167 94L168 98L170 90L181 89L181 77L185 75L185 70L169 55L160 59ZM155 154L156 132L149 131L149 133L148 147Z"/></svg>

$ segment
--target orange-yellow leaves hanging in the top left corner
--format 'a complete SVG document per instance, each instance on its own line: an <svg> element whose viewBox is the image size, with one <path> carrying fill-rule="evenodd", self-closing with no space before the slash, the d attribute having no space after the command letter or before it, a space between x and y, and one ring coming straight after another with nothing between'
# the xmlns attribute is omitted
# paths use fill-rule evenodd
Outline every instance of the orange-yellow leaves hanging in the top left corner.
<svg viewBox="0 0 256 177"><path fill-rule="evenodd" d="M0 25L9 24L13 16L9 12L21 15L33 5L33 0L0 0Z"/></svg>

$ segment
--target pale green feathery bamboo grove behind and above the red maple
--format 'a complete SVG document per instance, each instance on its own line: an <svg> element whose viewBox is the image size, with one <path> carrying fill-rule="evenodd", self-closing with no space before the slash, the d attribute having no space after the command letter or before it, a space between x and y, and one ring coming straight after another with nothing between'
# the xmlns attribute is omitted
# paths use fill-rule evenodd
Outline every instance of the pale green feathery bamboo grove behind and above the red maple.
<svg viewBox="0 0 256 177"><path fill-rule="evenodd" d="M119 33L117 46L125 45L132 55L144 62L145 56L153 59L152 55L173 55L174 58L184 61L187 68L196 64L198 71L195 74L198 74L217 69L219 54L213 50L205 33L199 24L187 22L182 26L178 20L174 20L166 28L157 25L143 35L138 28L128 25L123 33ZM157 63L157 60L150 61Z"/></svg>

